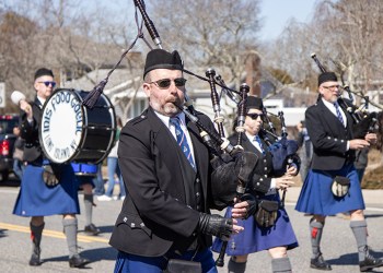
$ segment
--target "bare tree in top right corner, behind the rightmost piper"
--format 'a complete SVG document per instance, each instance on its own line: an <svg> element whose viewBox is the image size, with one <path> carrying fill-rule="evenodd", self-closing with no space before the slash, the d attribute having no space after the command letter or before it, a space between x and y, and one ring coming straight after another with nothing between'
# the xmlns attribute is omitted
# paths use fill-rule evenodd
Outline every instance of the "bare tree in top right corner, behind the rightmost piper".
<svg viewBox="0 0 383 273"><path fill-rule="evenodd" d="M289 71L294 80L311 81L309 86L315 87L318 70L310 55L316 52L351 88L381 90L374 80L382 74L382 12L379 0L318 1L310 23L291 21L268 47L267 62Z"/></svg>

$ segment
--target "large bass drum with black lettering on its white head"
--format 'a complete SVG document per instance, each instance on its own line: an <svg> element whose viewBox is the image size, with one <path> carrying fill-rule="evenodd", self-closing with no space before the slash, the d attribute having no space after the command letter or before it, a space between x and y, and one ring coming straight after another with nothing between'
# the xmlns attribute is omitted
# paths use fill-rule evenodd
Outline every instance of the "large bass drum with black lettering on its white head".
<svg viewBox="0 0 383 273"><path fill-rule="evenodd" d="M43 107L39 141L54 163L102 162L115 142L116 115L101 94L92 109L82 105L89 92L59 88Z"/></svg>

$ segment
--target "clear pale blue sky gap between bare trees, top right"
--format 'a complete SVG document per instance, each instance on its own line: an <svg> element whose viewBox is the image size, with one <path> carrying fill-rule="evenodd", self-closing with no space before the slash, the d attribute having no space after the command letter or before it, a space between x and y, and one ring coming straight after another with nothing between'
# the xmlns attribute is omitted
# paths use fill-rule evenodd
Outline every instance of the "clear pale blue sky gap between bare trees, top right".
<svg viewBox="0 0 383 273"><path fill-rule="evenodd" d="M262 40L277 38L292 17L298 22L309 22L315 2L316 0L262 0L263 28L259 38Z"/></svg>

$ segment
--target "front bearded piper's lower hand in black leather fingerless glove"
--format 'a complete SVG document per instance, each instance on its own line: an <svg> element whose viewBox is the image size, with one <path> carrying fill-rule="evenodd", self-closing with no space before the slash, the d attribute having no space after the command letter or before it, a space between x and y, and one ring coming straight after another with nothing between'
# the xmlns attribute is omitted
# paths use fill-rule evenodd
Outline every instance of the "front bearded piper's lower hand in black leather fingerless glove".
<svg viewBox="0 0 383 273"><path fill-rule="evenodd" d="M199 230L202 234L216 236L223 241L228 241L232 233L241 230L241 227L234 224L236 224L235 219L224 218L217 214L199 214Z"/></svg>

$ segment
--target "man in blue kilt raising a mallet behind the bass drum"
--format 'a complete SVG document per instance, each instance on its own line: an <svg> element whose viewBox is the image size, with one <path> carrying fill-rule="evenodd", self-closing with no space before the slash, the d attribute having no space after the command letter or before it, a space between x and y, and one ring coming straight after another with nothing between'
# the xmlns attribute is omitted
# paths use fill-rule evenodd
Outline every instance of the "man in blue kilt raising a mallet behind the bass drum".
<svg viewBox="0 0 383 273"><path fill-rule="evenodd" d="M69 266L83 268L90 261L78 252L78 219L80 213L78 183L70 164L53 164L46 159L39 143L39 122L42 108L56 86L51 70L40 68L35 72L34 88L36 97L27 103L25 96L12 98L21 109L21 136L25 140L24 161L27 163L23 174L19 197L13 214L31 217L32 256L31 266L43 263L40 241L44 216L62 215L63 232L69 250Z"/></svg>

